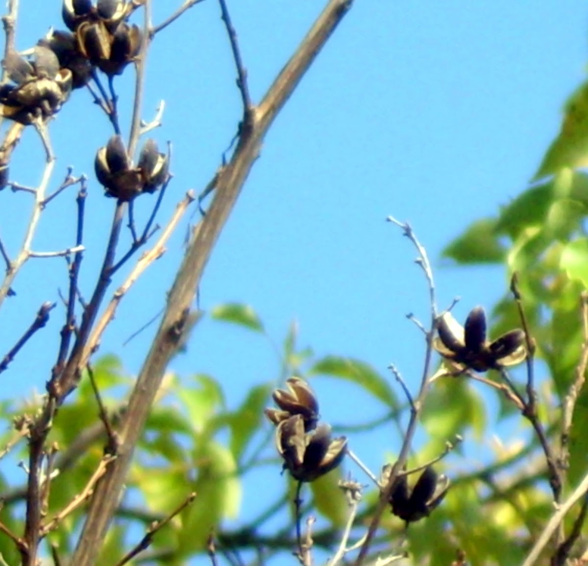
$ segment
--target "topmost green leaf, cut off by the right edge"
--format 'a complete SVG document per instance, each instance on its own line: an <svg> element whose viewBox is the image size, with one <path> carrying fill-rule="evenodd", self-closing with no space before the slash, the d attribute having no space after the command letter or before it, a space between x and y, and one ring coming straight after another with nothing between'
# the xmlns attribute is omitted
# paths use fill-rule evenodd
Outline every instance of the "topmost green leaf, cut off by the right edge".
<svg viewBox="0 0 588 566"><path fill-rule="evenodd" d="M567 101L562 129L547 149L534 178L552 175L569 167L588 165L588 83L584 83Z"/></svg>

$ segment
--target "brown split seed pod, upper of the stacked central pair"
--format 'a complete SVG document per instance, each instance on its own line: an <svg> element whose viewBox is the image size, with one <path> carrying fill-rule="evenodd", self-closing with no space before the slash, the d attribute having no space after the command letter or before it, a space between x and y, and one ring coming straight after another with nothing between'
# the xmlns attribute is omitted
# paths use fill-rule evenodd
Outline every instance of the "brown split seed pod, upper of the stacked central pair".
<svg viewBox="0 0 588 566"><path fill-rule="evenodd" d="M290 377L286 380L286 389L276 389L272 398L279 410L265 409L265 415L273 424L277 425L292 415L300 415L306 432L316 427L319 403L304 379Z"/></svg>

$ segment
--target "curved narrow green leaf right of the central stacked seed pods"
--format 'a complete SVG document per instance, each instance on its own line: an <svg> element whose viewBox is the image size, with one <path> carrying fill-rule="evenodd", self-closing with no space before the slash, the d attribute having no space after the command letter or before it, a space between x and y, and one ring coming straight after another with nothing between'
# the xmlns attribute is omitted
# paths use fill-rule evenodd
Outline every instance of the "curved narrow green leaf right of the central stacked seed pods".
<svg viewBox="0 0 588 566"><path fill-rule="evenodd" d="M359 359L342 356L326 356L319 359L308 371L309 375L325 374L347 379L360 385L374 397L396 409L398 402L396 395L387 380L372 366Z"/></svg>

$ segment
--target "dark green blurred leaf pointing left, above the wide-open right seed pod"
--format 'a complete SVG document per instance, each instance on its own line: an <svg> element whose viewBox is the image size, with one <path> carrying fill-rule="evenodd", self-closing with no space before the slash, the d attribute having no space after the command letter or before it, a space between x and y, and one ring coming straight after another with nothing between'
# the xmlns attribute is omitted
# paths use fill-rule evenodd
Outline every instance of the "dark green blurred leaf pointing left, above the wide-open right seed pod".
<svg viewBox="0 0 588 566"><path fill-rule="evenodd" d="M496 219L477 220L443 250L459 264L499 263L506 253L496 234Z"/></svg>

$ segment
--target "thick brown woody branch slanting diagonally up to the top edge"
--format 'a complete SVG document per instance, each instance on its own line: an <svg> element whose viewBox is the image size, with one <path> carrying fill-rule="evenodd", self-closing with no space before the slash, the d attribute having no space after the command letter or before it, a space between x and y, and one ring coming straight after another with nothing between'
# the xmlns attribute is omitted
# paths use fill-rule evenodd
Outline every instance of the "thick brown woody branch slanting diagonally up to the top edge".
<svg viewBox="0 0 588 566"><path fill-rule="evenodd" d="M76 566L91 566L96 560L108 525L118 507L119 494L149 409L168 362L182 342L203 270L259 155L263 138L351 5L352 0L328 2L295 54L270 86L261 104L253 109L251 128L240 137L233 157L219 172L215 197L208 214L193 230L191 244L169 292L161 325L131 394L128 412L123 417L119 431L119 456L112 462L93 495L78 547L72 557L72 564Z"/></svg>

